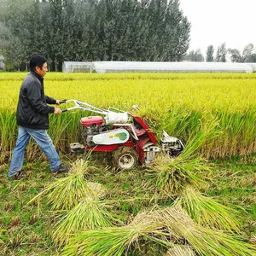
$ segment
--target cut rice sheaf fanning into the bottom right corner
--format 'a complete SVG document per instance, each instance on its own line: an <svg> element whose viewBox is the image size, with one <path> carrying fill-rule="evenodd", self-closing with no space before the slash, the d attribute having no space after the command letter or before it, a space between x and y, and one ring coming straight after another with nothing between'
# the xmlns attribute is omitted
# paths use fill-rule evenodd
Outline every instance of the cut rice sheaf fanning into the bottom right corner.
<svg viewBox="0 0 256 256"><path fill-rule="evenodd" d="M167 230L183 237L199 255L253 256L256 247L222 231L210 230L196 224L180 207L167 207L161 211L161 220Z"/></svg>

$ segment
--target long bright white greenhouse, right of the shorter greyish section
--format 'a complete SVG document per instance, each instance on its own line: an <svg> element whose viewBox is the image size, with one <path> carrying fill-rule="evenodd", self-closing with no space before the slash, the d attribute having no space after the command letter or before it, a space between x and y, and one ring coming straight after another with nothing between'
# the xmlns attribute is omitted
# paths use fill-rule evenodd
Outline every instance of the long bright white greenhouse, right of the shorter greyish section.
<svg viewBox="0 0 256 256"><path fill-rule="evenodd" d="M253 73L245 63L94 61L96 73Z"/></svg>

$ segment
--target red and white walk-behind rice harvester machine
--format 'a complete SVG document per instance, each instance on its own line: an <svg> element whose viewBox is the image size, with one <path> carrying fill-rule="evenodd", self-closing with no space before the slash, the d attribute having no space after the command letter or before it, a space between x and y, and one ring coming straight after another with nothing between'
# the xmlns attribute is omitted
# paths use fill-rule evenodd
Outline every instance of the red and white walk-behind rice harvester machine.
<svg viewBox="0 0 256 256"><path fill-rule="evenodd" d="M100 114L80 119L83 144L71 143L70 148L73 152L84 152L84 150L111 152L113 166L122 170L132 169L137 164L148 166L154 160L155 154L160 151L166 152L171 157L183 151L182 141L170 137L166 131L162 131L158 143L147 123L131 111L96 108L79 100L61 101L61 103L66 102L73 102L74 106L62 109L62 112L81 109ZM138 109L135 105L132 108Z"/></svg>

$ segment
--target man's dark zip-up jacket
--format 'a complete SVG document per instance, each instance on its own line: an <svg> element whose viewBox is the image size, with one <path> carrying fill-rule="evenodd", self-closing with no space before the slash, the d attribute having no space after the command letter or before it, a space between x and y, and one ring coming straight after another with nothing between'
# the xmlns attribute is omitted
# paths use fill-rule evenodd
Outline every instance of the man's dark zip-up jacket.
<svg viewBox="0 0 256 256"><path fill-rule="evenodd" d="M26 128L49 129L49 113L55 108L47 105L55 104L56 100L44 95L44 78L37 73L29 73L20 87L17 107L17 124Z"/></svg>

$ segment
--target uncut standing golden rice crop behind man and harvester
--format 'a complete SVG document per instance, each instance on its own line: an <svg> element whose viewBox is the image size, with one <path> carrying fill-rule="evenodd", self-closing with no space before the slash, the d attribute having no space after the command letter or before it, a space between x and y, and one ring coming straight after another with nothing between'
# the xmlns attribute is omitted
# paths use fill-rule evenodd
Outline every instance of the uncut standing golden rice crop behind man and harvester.
<svg viewBox="0 0 256 256"><path fill-rule="evenodd" d="M14 147L15 109L25 76L0 73L1 154ZM215 136L201 145L201 152L217 158L256 152L255 79L255 73L48 73L44 84L46 95L57 99L79 99L101 108L124 110L136 104L141 108L138 114L158 137L165 129L187 141L201 129L201 123L212 120ZM51 116L49 135L57 148L65 150L79 139L79 119L88 114L77 110Z"/></svg>

